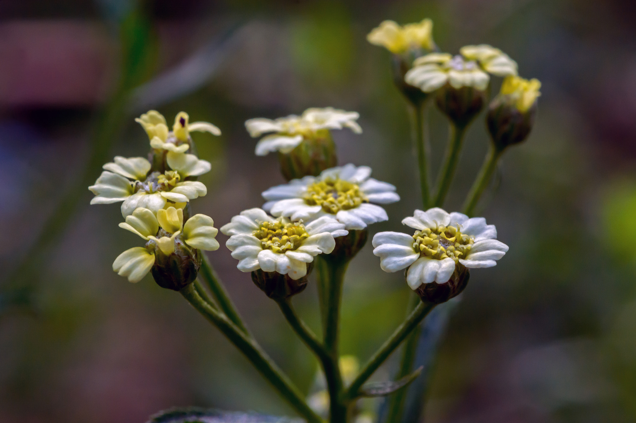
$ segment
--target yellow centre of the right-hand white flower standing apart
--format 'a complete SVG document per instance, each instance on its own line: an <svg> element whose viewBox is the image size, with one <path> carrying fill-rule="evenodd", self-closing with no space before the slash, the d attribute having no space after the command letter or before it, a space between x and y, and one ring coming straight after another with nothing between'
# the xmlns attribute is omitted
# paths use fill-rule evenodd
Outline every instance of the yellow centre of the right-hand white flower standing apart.
<svg viewBox="0 0 636 423"><path fill-rule="evenodd" d="M455 263L460 258L466 258L475 242L473 237L460 232L459 225L415 231L413 240L413 249L419 251L420 257L436 260L450 257L455 260Z"/></svg>

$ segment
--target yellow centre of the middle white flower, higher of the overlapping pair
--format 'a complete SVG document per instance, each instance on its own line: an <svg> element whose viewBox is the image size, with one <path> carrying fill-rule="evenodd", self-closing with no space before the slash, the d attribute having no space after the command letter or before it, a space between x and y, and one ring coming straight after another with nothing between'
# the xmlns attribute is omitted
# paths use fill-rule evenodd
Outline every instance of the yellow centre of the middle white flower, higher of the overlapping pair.
<svg viewBox="0 0 636 423"><path fill-rule="evenodd" d="M369 202L357 184L342 179L326 179L311 184L303 200L308 205L320 205L322 210L331 214Z"/></svg>

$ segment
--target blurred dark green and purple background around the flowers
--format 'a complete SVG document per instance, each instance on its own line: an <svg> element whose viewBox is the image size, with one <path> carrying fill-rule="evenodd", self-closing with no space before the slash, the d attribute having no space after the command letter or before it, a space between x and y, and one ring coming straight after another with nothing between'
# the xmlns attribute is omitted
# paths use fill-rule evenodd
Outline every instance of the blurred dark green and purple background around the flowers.
<svg viewBox="0 0 636 423"><path fill-rule="evenodd" d="M530 138L509 149L480 214L510 251L473 272L441 343L425 421L636 420L636 7L609 0L0 2L0 422L137 423L169 406L292 414L177 293L111 269L139 239L86 186L114 155L142 156L134 117L186 110L221 226L283 182L254 156L248 118L307 107L358 111L334 134L341 163L370 165L402 200L371 233L401 230L420 204L404 101L382 20L430 17L442 50L490 43L543 83ZM496 79L496 78L495 78ZM494 81L496 92L499 81ZM433 165L447 123L431 116ZM468 132L446 208L458 209L488 146ZM218 239L225 242L226 237ZM273 302L209 253L259 342L309 389L317 364ZM403 319L409 291L368 245L350 266L342 352L364 361ZM315 288L294 300L318 326ZM387 378L390 364L378 378Z"/></svg>

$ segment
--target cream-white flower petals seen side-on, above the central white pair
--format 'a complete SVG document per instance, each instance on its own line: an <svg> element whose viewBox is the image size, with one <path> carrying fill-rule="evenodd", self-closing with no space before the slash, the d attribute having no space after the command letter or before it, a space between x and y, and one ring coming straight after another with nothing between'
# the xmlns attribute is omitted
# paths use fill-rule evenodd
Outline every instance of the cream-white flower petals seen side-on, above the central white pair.
<svg viewBox="0 0 636 423"><path fill-rule="evenodd" d="M301 116L290 114L275 120L250 119L245 121L245 128L252 138L273 132L256 143L256 155L265 156L273 151L289 153L305 139L328 135L329 129L350 128L356 134L361 134L362 128L356 122L359 116L354 111L312 107L305 110Z"/></svg>

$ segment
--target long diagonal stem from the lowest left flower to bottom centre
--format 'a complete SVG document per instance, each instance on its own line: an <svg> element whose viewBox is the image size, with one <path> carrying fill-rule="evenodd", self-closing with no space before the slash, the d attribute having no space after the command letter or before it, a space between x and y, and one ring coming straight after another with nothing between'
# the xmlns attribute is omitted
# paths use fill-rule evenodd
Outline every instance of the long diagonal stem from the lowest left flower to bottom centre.
<svg viewBox="0 0 636 423"><path fill-rule="evenodd" d="M280 368L273 363L272 359L267 356L266 352L261 349L256 340L247 335L235 325L228 317L221 314L201 298L197 289L190 284L181 289L181 295L197 309L207 320L216 326L225 335L247 359L254 364L254 367L265 377L275 389L287 400L298 414L304 417L309 423L324 423L322 419L309 408L303 395L294 386Z"/></svg>

